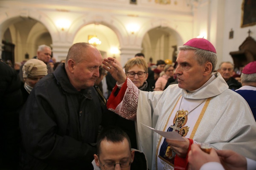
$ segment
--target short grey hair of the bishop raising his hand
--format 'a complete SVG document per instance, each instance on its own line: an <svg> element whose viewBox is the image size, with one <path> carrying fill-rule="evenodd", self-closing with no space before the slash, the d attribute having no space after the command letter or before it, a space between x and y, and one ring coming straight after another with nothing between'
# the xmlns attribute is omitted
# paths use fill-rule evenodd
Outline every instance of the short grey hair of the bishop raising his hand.
<svg viewBox="0 0 256 170"><path fill-rule="evenodd" d="M212 63L212 72L214 71L216 64L217 64L217 54L212 51L202 50L195 47L190 46L180 46L178 50L195 50L195 60L198 62L199 65L203 65L207 62Z"/></svg>

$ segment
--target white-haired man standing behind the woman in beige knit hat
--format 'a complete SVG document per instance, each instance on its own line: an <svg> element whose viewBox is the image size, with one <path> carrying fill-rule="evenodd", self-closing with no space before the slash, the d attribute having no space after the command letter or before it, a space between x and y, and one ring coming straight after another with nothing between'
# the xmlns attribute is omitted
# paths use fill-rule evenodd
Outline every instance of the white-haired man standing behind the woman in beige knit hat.
<svg viewBox="0 0 256 170"><path fill-rule="evenodd" d="M51 56L52 56L51 47L46 46L46 45L40 45L40 46L38 46L38 49L37 49L37 56L33 57L35 59L43 61L47 65L47 73L48 74L53 73L53 68L48 64L49 61L51 60ZM23 80L23 72L22 72L23 65L20 67L20 71L19 71L19 77L22 82L24 81Z"/></svg>

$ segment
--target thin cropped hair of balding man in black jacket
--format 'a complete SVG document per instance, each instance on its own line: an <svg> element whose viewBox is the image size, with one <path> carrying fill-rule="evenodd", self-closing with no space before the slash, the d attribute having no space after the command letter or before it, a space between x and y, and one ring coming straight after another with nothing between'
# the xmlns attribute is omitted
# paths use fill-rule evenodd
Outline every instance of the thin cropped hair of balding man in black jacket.
<svg viewBox="0 0 256 170"><path fill-rule="evenodd" d="M73 44L69 51L68 51L68 55L66 58L66 63L65 65L68 65L68 60L72 59L74 62L79 63L81 62L84 57L83 53L86 53L85 50L90 47L91 45L89 43L75 43Z"/></svg>

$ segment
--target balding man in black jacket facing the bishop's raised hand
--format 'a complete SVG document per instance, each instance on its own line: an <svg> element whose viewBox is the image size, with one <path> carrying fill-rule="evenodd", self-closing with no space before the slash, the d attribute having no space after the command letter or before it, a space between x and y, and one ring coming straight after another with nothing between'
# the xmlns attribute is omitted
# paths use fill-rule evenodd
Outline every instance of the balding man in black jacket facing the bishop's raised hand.
<svg viewBox="0 0 256 170"><path fill-rule="evenodd" d="M101 64L94 46L76 43L66 63L32 89L19 121L23 169L93 169L101 122L93 86Z"/></svg>

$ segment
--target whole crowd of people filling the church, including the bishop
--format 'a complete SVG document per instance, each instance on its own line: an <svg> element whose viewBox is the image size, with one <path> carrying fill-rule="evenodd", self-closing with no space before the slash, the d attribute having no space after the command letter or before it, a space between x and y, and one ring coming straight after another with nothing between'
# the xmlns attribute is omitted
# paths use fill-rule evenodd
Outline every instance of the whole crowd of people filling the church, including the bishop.
<svg viewBox="0 0 256 170"><path fill-rule="evenodd" d="M0 169L255 169L256 61L215 70L210 41L178 49L156 65L137 53L122 67L88 43L65 61L40 45L0 62Z"/></svg>

